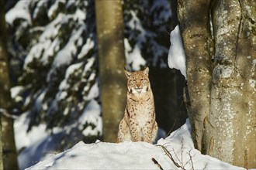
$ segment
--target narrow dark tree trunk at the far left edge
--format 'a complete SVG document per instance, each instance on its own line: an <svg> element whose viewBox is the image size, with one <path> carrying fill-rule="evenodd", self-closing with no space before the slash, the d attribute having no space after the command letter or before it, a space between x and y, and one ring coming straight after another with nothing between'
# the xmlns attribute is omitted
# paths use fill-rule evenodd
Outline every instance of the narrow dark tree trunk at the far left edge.
<svg viewBox="0 0 256 170"><path fill-rule="evenodd" d="M8 56L6 52L6 29L4 0L0 0L0 108L12 110ZM4 169L18 169L13 119L0 115L2 125L2 154ZM1 155L2 156L2 155Z"/></svg>

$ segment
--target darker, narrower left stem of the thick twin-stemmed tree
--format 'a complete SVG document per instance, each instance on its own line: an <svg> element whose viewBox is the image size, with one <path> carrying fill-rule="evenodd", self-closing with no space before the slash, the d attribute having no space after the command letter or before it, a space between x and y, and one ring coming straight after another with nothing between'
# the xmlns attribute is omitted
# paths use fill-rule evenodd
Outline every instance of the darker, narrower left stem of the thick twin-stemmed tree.
<svg viewBox="0 0 256 170"><path fill-rule="evenodd" d="M195 148L202 149L203 121L209 114L213 39L209 26L209 0L178 1L178 20L184 43L189 87L189 120Z"/></svg>

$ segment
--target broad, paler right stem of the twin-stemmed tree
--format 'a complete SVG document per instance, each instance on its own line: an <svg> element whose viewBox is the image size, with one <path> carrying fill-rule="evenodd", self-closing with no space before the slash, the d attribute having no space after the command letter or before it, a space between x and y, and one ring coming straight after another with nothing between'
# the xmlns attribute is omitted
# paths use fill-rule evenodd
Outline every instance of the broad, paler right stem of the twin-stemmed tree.
<svg viewBox="0 0 256 170"><path fill-rule="evenodd" d="M250 83L256 80L255 5L238 0L213 4L216 66L206 154L244 168L256 167L255 83Z"/></svg>

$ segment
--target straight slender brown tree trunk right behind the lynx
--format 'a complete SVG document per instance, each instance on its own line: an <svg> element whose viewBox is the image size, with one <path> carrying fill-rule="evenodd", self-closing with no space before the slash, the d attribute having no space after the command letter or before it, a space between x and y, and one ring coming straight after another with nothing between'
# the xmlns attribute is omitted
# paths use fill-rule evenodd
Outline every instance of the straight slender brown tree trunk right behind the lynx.
<svg viewBox="0 0 256 170"><path fill-rule="evenodd" d="M103 138L114 142L126 104L126 65L121 0L95 1Z"/></svg>

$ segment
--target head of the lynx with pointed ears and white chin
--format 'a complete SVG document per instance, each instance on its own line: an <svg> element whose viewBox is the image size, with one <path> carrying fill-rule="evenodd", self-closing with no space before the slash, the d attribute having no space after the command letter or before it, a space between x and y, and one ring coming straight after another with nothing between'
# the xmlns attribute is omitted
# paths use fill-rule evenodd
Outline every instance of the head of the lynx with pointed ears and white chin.
<svg viewBox="0 0 256 170"><path fill-rule="evenodd" d="M141 94L150 90L150 81L148 78L148 67L143 71L135 71L130 73L124 70L128 78L127 87L129 93Z"/></svg>

